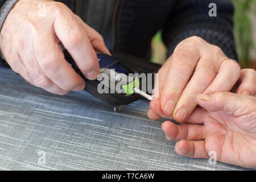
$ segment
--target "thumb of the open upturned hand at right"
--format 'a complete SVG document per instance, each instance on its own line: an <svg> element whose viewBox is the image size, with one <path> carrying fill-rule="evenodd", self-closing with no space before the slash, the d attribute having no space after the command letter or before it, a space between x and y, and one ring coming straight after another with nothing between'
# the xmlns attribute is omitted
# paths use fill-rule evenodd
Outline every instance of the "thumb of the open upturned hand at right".
<svg viewBox="0 0 256 182"><path fill-rule="evenodd" d="M242 115L256 110L256 98L230 92L198 94L196 100L201 107L212 112Z"/></svg>

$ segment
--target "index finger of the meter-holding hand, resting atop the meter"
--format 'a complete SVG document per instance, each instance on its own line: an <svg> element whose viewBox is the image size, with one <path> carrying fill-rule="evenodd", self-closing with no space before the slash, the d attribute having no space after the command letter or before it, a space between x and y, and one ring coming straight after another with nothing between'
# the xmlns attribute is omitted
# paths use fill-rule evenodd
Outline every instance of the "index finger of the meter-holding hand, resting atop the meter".
<svg viewBox="0 0 256 182"><path fill-rule="evenodd" d="M84 28L71 10L59 13L54 22L54 30L84 76L95 80L100 73L96 52Z"/></svg>

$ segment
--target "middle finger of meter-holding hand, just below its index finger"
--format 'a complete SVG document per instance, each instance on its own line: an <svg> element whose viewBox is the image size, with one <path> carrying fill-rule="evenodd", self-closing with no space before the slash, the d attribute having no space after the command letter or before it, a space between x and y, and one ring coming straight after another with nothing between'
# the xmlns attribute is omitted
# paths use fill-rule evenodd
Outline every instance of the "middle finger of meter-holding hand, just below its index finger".
<svg viewBox="0 0 256 182"><path fill-rule="evenodd" d="M53 37L53 32L36 37L33 47L40 69L59 88L65 91L81 91L85 88L84 79L65 60L56 38Z"/></svg>

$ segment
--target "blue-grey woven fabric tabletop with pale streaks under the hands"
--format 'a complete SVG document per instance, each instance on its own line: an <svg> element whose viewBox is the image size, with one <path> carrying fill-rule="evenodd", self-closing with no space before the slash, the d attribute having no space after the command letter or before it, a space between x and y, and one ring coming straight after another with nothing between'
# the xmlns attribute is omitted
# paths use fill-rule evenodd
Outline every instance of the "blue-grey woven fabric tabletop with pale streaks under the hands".
<svg viewBox="0 0 256 182"><path fill-rule="evenodd" d="M114 113L86 92L56 96L0 68L0 169L243 170L175 153L139 100ZM46 160L40 163L40 154Z"/></svg>

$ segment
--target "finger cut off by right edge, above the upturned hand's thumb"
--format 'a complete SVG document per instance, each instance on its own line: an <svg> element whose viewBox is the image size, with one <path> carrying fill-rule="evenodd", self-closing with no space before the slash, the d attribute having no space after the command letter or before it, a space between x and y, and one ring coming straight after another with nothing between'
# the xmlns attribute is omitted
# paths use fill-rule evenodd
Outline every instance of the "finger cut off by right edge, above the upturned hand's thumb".
<svg viewBox="0 0 256 182"><path fill-rule="evenodd" d="M237 93L254 96L256 93L256 72L254 69L242 69L240 86Z"/></svg>

